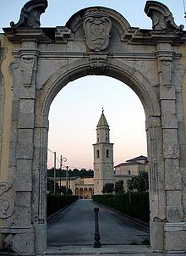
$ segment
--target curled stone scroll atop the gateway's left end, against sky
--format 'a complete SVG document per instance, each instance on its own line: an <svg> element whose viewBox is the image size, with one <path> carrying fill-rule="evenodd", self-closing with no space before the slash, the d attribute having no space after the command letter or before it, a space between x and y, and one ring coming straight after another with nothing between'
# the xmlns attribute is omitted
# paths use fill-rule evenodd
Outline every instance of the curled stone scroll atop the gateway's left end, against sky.
<svg viewBox="0 0 186 256"><path fill-rule="evenodd" d="M11 27L39 27L40 16L45 13L47 8L47 0L31 0L25 3L21 9L19 22L17 24L14 21L10 22Z"/></svg>

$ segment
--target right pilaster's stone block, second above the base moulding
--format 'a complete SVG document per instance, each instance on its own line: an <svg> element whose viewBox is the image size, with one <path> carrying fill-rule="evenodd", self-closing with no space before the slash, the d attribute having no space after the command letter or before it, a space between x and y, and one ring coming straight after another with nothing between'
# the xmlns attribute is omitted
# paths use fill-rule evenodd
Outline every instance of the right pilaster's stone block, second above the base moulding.
<svg viewBox="0 0 186 256"><path fill-rule="evenodd" d="M182 189L178 159L165 159L165 186L166 190Z"/></svg>

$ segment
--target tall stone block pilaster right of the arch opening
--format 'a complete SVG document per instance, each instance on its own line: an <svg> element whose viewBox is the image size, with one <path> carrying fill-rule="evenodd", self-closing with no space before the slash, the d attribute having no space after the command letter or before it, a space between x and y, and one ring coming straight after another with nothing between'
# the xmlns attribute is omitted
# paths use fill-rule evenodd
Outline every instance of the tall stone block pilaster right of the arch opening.
<svg viewBox="0 0 186 256"><path fill-rule="evenodd" d="M165 168L166 222L164 224L166 251L186 249L181 246L184 229L173 232L172 226L184 225L182 177L180 172L180 144L178 139L178 111L173 81L174 62L178 58L168 42L157 43L156 58L159 66L161 126ZM170 228L167 228L170 226ZM178 242L179 241L179 242Z"/></svg>

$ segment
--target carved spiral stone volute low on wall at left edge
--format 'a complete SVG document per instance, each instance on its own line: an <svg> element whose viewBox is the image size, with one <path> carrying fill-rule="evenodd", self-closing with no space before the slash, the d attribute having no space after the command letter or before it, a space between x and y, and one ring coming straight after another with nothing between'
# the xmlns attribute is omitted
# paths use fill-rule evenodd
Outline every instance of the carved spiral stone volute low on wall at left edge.
<svg viewBox="0 0 186 256"><path fill-rule="evenodd" d="M13 182L14 183L14 182ZM14 214L14 198L8 193L13 183L4 181L0 183L0 218L7 219Z"/></svg>

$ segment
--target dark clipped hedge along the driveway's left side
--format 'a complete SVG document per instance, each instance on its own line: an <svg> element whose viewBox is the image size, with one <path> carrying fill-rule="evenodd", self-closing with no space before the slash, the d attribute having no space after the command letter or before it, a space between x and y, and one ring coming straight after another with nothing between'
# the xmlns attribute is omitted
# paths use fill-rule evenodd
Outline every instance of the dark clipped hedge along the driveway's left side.
<svg viewBox="0 0 186 256"><path fill-rule="evenodd" d="M64 206L73 203L78 197L76 196L60 196L47 194L47 217L55 214L58 210L62 209Z"/></svg>

